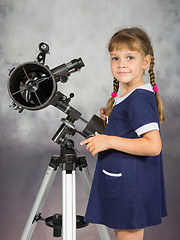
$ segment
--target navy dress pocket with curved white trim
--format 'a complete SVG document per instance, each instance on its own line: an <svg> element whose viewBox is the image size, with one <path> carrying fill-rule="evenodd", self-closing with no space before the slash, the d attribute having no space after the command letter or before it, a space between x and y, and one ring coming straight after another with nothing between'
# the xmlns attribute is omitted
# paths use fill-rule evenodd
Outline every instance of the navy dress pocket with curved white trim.
<svg viewBox="0 0 180 240"><path fill-rule="evenodd" d="M109 172L105 169L101 172L100 191L106 198L117 198L122 193L123 175L121 172Z"/></svg>

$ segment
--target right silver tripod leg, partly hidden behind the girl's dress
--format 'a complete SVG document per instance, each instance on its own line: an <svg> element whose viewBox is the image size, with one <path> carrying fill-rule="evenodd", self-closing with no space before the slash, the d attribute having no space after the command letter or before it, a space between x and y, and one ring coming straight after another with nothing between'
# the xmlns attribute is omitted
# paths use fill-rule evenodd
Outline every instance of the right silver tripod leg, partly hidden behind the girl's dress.
<svg viewBox="0 0 180 240"><path fill-rule="evenodd" d="M91 185L92 185L92 177L89 172L88 166L83 167L82 171L80 172L80 176L84 185L84 190L87 194L87 197L89 198L90 190L91 190ZM108 228L104 225L96 224L99 235L101 240L111 240Z"/></svg>

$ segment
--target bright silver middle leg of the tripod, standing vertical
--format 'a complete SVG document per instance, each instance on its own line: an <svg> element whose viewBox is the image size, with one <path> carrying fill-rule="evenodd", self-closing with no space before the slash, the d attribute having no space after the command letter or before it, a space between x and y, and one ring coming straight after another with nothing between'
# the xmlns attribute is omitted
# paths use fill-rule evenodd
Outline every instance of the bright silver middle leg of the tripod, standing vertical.
<svg viewBox="0 0 180 240"><path fill-rule="evenodd" d="M76 240L76 182L75 170L63 176L63 240Z"/></svg>

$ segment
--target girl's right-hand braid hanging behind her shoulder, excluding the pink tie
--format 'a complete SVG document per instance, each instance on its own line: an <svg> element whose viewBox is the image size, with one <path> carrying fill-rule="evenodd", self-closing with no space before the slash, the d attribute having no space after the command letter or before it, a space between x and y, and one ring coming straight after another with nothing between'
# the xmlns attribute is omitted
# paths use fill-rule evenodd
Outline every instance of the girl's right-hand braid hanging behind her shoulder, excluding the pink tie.
<svg viewBox="0 0 180 240"><path fill-rule="evenodd" d="M154 74L154 53L152 50L151 53L151 62L150 62L150 66L149 66L149 75L150 75L150 83L152 85L152 87L154 87L156 85L155 82L155 74ZM162 104L162 100L160 97L159 92L155 92L155 98L156 98L156 102L157 102L157 107L158 107L158 115L159 115L159 122L163 122L164 121L164 110L163 110L163 104Z"/></svg>

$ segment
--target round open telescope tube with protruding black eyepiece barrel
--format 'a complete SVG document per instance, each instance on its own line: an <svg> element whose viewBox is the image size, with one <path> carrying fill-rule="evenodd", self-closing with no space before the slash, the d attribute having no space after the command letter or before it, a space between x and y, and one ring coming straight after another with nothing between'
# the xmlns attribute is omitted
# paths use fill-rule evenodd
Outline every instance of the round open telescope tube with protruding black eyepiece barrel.
<svg viewBox="0 0 180 240"><path fill-rule="evenodd" d="M81 58L50 70L39 62L26 62L12 69L8 79L10 97L21 108L39 110L53 102L57 82L84 66Z"/></svg>

